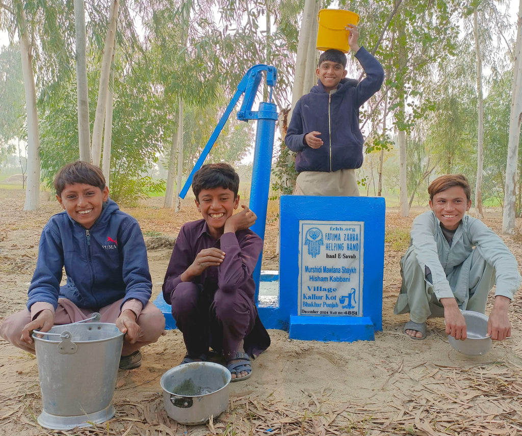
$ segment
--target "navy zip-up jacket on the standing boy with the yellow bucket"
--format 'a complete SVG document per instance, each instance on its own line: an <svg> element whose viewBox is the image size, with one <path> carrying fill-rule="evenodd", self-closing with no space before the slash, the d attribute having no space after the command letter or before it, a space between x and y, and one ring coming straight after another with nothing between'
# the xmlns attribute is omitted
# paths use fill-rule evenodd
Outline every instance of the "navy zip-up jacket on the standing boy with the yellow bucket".
<svg viewBox="0 0 522 436"><path fill-rule="evenodd" d="M355 57L361 63L366 77L358 82L342 79L337 92L328 93L321 83L312 88L296 103L287 135L286 146L297 152L295 169L331 172L346 168L360 168L363 162L364 139L359 128L359 108L383 84L382 65L364 47ZM309 147L304 137L312 131L321 132L323 145Z"/></svg>

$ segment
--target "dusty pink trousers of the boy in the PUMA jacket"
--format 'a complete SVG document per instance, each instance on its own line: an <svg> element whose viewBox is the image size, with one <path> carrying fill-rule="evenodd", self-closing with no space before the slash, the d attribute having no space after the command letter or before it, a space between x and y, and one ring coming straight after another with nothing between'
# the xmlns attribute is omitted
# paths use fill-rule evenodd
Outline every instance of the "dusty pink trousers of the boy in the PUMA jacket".
<svg viewBox="0 0 522 436"><path fill-rule="evenodd" d="M122 301L118 300L109 306L99 310L101 315L100 322L115 323L120 316L120 306ZM58 307L54 312L54 325L69 324L82 321L92 316L92 310L80 309L67 298L58 299ZM31 322L31 313L27 308L20 312L13 313L7 317L0 326L0 336L14 346L34 354L34 343L27 344L21 340L23 327ZM156 342L165 328L165 318L161 311L150 301L147 303L136 321L141 328L138 340L134 344L123 341L122 356L134 353L140 347Z"/></svg>

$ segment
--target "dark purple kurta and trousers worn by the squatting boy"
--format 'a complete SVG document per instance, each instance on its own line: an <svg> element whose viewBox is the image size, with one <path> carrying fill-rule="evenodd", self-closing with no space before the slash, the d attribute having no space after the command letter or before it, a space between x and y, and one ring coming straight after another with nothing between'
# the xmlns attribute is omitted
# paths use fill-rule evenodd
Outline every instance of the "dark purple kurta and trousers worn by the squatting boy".
<svg viewBox="0 0 522 436"><path fill-rule="evenodd" d="M182 282L181 274L197 254L211 247L225 252L221 265ZM190 356L207 354L211 347L228 358L243 339L245 352L251 356L268 348L270 337L257 314L252 277L262 249L263 240L250 229L215 240L205 220L181 227L162 289Z"/></svg>

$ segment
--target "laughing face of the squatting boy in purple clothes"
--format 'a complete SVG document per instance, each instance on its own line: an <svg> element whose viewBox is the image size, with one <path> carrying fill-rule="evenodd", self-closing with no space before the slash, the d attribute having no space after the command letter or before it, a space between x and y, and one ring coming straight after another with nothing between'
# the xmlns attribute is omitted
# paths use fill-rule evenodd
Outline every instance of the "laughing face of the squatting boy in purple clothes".
<svg viewBox="0 0 522 436"><path fill-rule="evenodd" d="M225 222L238 209L239 195L228 188L201 189L196 199L198 212L207 222L210 234L218 239L223 234Z"/></svg>

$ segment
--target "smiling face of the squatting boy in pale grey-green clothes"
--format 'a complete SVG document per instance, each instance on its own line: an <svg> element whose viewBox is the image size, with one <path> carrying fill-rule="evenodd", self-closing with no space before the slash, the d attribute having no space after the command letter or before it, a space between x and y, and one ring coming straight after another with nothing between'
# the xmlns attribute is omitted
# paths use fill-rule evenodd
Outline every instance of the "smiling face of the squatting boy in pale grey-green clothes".
<svg viewBox="0 0 522 436"><path fill-rule="evenodd" d="M430 208L441 224L448 230L455 230L471 207L471 200L466 197L464 188L452 186L438 192L430 200Z"/></svg>

